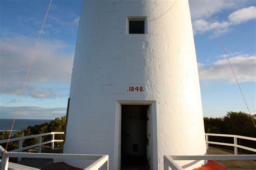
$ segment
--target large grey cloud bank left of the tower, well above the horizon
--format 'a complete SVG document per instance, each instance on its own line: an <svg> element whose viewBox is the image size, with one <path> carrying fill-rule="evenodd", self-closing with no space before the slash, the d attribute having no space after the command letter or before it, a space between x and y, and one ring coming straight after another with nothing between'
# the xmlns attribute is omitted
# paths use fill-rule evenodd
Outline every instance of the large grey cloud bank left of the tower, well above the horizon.
<svg viewBox="0 0 256 170"><path fill-rule="evenodd" d="M16 36L0 39L0 92L20 94L35 46L33 38ZM73 52L59 40L41 40L25 89L35 98L62 97L62 88L41 87L45 84L70 84Z"/></svg>

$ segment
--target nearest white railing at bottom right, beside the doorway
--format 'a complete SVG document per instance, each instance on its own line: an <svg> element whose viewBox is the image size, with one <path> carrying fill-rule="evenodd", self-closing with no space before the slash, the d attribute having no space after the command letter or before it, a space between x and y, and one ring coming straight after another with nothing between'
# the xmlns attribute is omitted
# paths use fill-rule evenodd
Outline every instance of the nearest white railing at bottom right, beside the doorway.
<svg viewBox="0 0 256 170"><path fill-rule="evenodd" d="M169 170L169 167L173 170L183 169L175 160L256 160L256 155L164 155L164 170Z"/></svg>

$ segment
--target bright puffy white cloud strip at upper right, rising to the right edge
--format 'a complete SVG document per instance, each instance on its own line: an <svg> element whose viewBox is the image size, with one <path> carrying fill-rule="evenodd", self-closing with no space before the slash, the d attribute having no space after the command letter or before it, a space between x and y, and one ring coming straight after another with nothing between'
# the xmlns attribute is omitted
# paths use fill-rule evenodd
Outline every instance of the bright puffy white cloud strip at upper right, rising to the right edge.
<svg viewBox="0 0 256 170"><path fill-rule="evenodd" d="M256 8L255 6L250 6L248 8L243 8L232 12L228 16L228 21L214 22L213 24L218 29L220 33L226 32L228 28L232 25L238 25L240 23L249 21L251 19L256 19ZM194 34L204 33L214 29L214 26L210 21L206 19L196 19L193 21L193 31Z"/></svg>

